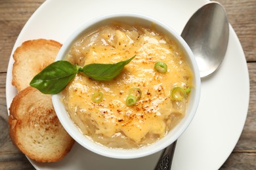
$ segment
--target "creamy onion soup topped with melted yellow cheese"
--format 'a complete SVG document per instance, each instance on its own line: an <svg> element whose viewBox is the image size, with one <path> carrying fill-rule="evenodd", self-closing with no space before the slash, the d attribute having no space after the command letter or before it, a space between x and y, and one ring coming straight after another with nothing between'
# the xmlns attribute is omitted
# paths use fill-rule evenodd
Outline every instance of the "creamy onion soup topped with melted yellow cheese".
<svg viewBox="0 0 256 170"><path fill-rule="evenodd" d="M113 80L97 81L79 73L62 91L70 117L96 143L112 148L145 146L163 137L186 114L192 71L179 46L154 29L100 27L77 39L66 59L83 67L135 55ZM154 68L158 61L167 65L166 73ZM136 98L131 106L130 95Z"/></svg>

